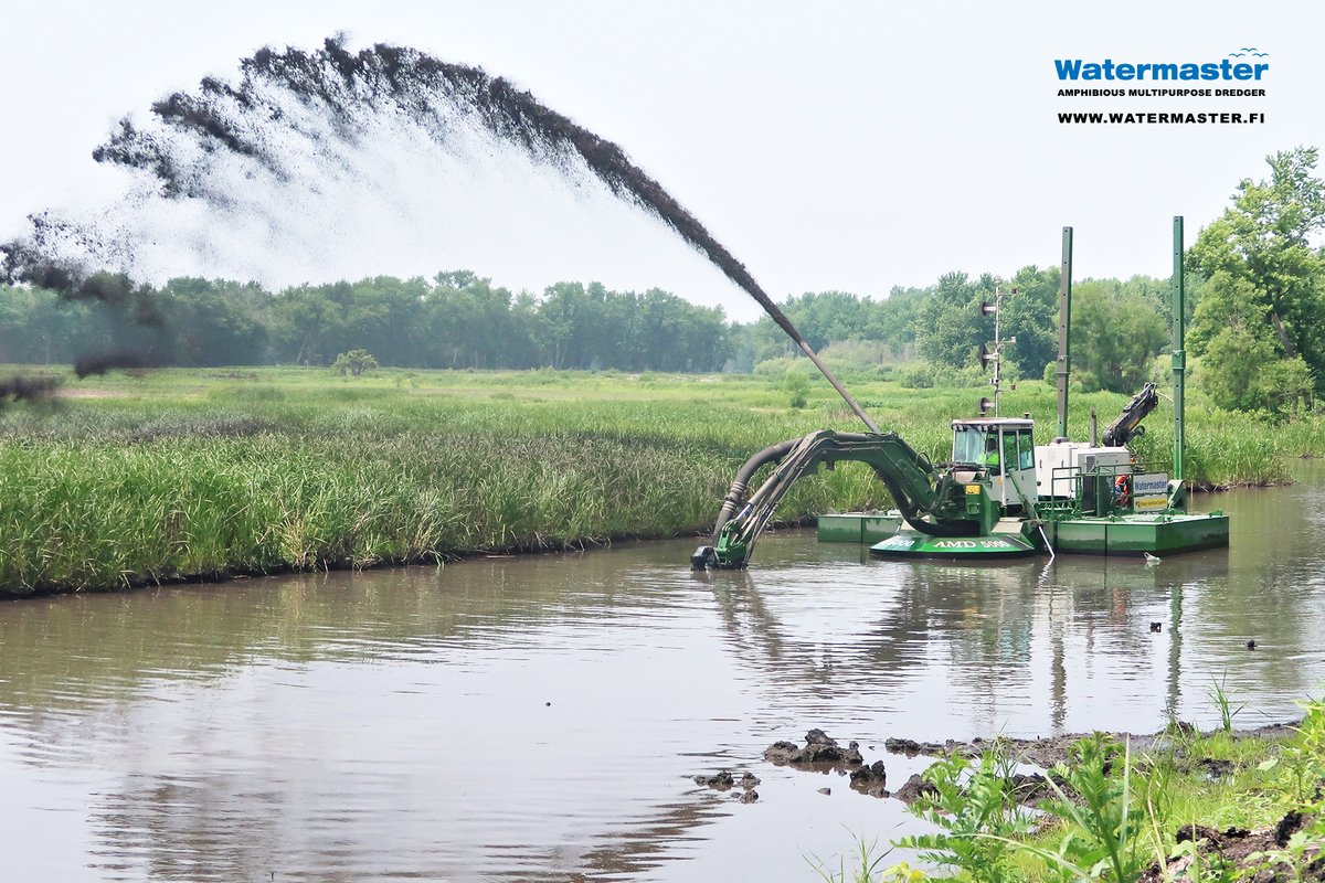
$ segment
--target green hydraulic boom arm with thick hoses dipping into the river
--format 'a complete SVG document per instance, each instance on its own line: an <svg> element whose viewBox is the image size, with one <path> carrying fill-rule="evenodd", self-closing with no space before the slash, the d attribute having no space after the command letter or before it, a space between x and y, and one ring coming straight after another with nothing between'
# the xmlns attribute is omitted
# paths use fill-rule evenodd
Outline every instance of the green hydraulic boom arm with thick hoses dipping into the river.
<svg viewBox="0 0 1325 883"><path fill-rule="evenodd" d="M873 467L888 486L902 518L916 530L934 536L987 534L998 520L998 507L984 485L971 483L975 473L938 471L897 433L810 433L765 449L737 473L713 528L713 545L701 545L690 556L694 569L743 568L754 543L772 519L778 503L802 475L823 463L859 461ZM749 482L765 465L772 473L754 494Z"/></svg>

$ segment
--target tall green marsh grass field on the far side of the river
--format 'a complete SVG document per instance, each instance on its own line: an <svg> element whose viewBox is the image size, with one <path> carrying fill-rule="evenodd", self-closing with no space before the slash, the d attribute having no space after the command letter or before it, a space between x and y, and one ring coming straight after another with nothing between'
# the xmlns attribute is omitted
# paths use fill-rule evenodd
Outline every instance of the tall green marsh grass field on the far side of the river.
<svg viewBox="0 0 1325 883"><path fill-rule="evenodd" d="M16 371L16 369L15 369ZM0 376L9 372L0 371ZM885 429L946 458L982 389L851 383ZM0 592L115 589L281 569L432 561L712 527L738 469L812 429L860 429L825 383L804 408L753 376L615 372L163 369L73 381L0 409ZM1072 436L1124 396L1073 396ZM1053 393L1019 384L1003 413L1052 433ZM1142 454L1166 463L1171 414ZM1191 478L1285 481L1318 424L1192 409ZM782 514L888 506L863 466L816 475Z"/></svg>

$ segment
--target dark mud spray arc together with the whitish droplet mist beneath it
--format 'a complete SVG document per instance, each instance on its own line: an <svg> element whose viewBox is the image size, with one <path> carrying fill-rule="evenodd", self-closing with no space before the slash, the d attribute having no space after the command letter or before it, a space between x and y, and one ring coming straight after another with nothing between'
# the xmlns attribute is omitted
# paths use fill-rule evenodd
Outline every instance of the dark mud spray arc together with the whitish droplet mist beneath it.
<svg viewBox="0 0 1325 883"><path fill-rule="evenodd" d="M32 216L26 236L0 246L9 281L86 298L97 297L87 291L97 271L280 287L448 263L490 269L511 252L556 250L542 240L576 214L567 208L632 216L635 234L655 225L624 200L767 301L616 144L502 78L413 49L350 52L339 40L315 52L264 49L240 64L237 82L208 77L158 101L93 155L134 183L109 205ZM620 217L584 221L592 236L579 238L606 238L602 228Z"/></svg>

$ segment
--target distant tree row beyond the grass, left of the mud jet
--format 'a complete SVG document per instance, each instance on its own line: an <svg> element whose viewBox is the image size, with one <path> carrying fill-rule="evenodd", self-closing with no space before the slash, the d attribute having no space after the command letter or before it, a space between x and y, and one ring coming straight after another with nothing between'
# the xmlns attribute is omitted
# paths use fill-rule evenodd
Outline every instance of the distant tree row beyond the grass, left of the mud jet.
<svg viewBox="0 0 1325 883"><path fill-rule="evenodd" d="M277 294L257 283L179 278L143 286L132 303L126 310L0 287L0 363L70 363L127 349L150 364L330 365L341 353L367 349L380 364L412 368L698 372L719 371L730 357L721 307L596 282L560 282L534 297L470 271Z"/></svg>

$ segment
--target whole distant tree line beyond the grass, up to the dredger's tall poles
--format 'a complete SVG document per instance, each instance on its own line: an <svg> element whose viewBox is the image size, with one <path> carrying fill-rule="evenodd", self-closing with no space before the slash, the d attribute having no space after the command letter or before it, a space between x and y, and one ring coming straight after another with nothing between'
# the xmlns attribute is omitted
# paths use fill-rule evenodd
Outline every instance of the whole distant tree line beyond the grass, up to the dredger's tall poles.
<svg viewBox="0 0 1325 883"><path fill-rule="evenodd" d="M963 369L978 365L980 344L992 338L992 318L980 304L992 301L996 285L990 274L953 273L881 301L823 291L780 306L815 349L856 367L922 361ZM1024 267L1002 285L1016 290L1004 298L1004 336L1016 336L1004 369L1039 376L1057 347L1059 270ZM1158 352L1166 286L1145 277L1077 286L1075 339L1088 385L1124 389ZM0 363L70 363L113 349L188 367L330 365L341 353L366 349L395 367L680 372L749 372L799 353L767 318L729 322L721 307L659 289L636 294L559 282L534 297L464 270L432 281L374 277L277 294L252 282L178 278L160 289L140 286L131 306L0 287Z"/></svg>

